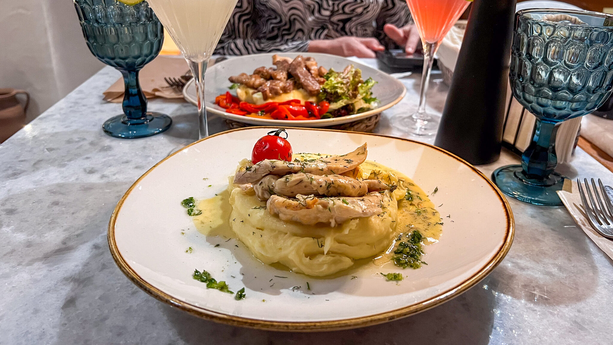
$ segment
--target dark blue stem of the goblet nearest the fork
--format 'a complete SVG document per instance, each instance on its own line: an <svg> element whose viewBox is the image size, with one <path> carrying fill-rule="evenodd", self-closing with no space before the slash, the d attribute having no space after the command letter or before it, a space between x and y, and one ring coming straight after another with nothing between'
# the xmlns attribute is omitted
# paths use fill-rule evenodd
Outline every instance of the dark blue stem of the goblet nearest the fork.
<svg viewBox="0 0 613 345"><path fill-rule="evenodd" d="M554 172L558 164L558 158L555 156L555 136L560 123L562 122L536 120L532 142L522 155L522 168L528 178L545 180Z"/></svg>

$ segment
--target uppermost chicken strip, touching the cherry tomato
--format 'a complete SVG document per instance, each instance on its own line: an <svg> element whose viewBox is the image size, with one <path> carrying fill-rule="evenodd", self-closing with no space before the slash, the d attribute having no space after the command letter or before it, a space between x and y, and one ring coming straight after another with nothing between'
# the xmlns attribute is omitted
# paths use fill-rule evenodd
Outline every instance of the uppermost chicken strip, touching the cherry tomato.
<svg viewBox="0 0 613 345"><path fill-rule="evenodd" d="M307 172L315 175L340 174L364 163L367 153L367 145L364 144L354 152L340 156L322 157L307 161L263 160L252 166L238 169L234 176L234 183L257 182L268 174L278 176L295 172Z"/></svg>

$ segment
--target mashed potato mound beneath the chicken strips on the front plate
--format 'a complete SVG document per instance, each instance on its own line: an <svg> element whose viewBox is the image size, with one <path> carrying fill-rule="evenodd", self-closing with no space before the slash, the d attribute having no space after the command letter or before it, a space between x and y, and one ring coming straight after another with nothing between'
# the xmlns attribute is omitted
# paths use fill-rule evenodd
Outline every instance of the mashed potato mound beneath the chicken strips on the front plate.
<svg viewBox="0 0 613 345"><path fill-rule="evenodd" d="M360 166L362 178L376 178L398 185L398 174L367 161ZM232 180L232 179L230 179ZM403 177L403 180L408 178ZM230 227L263 263L281 263L294 272L328 276L373 257L392 244L396 235L398 200L406 193L402 181L394 192L384 192L383 213L348 220L337 227L284 222L265 209L253 191L230 185Z"/></svg>

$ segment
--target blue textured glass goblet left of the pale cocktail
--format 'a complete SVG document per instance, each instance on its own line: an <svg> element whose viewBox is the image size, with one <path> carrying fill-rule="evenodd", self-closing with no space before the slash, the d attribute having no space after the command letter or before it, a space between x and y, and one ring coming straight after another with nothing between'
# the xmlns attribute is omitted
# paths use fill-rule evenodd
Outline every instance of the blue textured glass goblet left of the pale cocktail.
<svg viewBox="0 0 613 345"><path fill-rule="evenodd" d="M164 28L147 2L129 6L116 0L74 0L83 36L98 60L123 74L124 114L109 118L102 130L117 138L143 138L166 131L172 119L147 112L139 71L158 56Z"/></svg>

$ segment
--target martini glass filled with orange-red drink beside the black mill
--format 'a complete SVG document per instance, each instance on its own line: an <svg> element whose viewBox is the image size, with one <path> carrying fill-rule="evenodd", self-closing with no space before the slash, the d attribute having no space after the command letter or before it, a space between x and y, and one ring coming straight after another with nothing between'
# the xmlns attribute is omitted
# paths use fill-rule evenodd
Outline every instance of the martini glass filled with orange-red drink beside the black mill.
<svg viewBox="0 0 613 345"><path fill-rule="evenodd" d="M395 121L398 129L417 136L431 136L436 133L438 120L425 111L426 93L430 82L430 71L434 55L441 41L470 4L467 0L406 0L419 31L424 47L424 71L422 72L419 106L411 117L399 117Z"/></svg>

